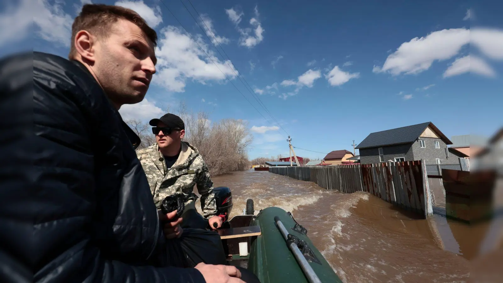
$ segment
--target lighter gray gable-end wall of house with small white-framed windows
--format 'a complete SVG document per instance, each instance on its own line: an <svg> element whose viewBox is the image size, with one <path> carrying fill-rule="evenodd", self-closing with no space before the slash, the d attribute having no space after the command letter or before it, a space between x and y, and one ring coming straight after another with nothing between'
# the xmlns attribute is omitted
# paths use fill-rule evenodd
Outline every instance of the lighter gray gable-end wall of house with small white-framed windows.
<svg viewBox="0 0 503 283"><path fill-rule="evenodd" d="M436 159L441 160L441 164L459 164L457 156L449 153L449 157L446 156L445 149L447 145L440 138L433 137L420 137L420 139L425 140L426 148L422 148L420 141L416 140L412 143L412 151L414 153L414 160L424 159L427 165L437 164ZM435 142L439 142L440 148L435 148Z"/></svg>

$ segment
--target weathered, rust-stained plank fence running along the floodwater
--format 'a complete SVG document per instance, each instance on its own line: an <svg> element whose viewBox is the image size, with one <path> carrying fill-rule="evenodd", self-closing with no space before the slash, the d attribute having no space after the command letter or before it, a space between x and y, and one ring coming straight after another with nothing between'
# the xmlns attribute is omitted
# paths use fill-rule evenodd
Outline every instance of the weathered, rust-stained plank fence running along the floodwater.
<svg viewBox="0 0 503 283"><path fill-rule="evenodd" d="M369 192L425 218L433 214L424 160L363 165L270 167L269 172L345 193Z"/></svg>

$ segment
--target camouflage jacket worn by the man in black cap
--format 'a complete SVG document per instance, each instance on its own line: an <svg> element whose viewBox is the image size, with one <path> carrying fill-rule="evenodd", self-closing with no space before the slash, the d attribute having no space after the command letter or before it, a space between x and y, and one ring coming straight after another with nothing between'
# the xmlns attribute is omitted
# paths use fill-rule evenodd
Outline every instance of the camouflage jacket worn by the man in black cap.
<svg viewBox="0 0 503 283"><path fill-rule="evenodd" d="M201 194L201 209L203 216L209 219L216 215L213 182L210 179L208 167L198 150L182 142L182 151L172 168L167 170L164 157L159 152L157 144L136 152L145 171L150 185L154 203L157 208L168 195L183 193L188 204L196 201L198 196L193 192L194 185Z"/></svg>

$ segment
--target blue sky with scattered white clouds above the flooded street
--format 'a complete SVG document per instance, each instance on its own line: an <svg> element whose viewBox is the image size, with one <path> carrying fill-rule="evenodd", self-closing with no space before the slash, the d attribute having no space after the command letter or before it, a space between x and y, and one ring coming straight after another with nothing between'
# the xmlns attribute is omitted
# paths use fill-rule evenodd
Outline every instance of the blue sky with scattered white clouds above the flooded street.
<svg viewBox="0 0 503 283"><path fill-rule="evenodd" d="M3 1L0 23L12 28L0 31L0 55L33 48L66 57L72 19L89 2ZM191 0L211 32L187 0L100 3L134 9L159 35L146 99L121 114L148 120L185 101L211 111L212 121L247 120L255 138L250 159L288 155L287 135L294 146L319 152L296 149L298 156L323 158L352 151L353 140L370 132L425 121L448 137L491 135L503 124L501 2Z"/></svg>

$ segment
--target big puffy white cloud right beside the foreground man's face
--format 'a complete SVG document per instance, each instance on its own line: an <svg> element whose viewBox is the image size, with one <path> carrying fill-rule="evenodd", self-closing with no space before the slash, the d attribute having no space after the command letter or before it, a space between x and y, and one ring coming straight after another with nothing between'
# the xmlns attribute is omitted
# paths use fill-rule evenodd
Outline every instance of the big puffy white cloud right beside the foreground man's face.
<svg viewBox="0 0 503 283"><path fill-rule="evenodd" d="M229 61L220 61L204 42L201 35L194 36L199 45L211 57L213 62L186 33L179 28L167 26L159 33L159 44L156 48L157 73L153 82L174 92L183 92L185 81L193 79L201 84L207 81L222 82L224 74L234 79L237 70ZM223 72L223 74L222 74Z"/></svg>

